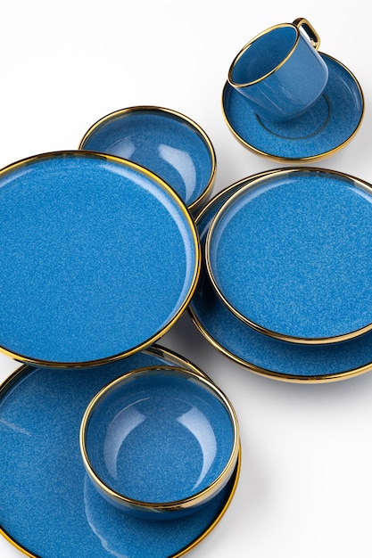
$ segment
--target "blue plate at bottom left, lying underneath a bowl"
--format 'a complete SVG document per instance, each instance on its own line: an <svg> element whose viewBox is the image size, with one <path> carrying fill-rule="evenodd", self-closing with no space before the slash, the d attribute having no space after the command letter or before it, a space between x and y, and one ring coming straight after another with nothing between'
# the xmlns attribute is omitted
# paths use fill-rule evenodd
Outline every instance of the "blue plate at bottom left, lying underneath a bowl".
<svg viewBox="0 0 372 558"><path fill-rule="evenodd" d="M120 362L75 370L24 367L0 390L0 530L42 558L168 558L183 554L225 511L236 475L182 520L129 517L98 494L79 453L79 427L98 390L131 369L194 365L153 347Z"/></svg>

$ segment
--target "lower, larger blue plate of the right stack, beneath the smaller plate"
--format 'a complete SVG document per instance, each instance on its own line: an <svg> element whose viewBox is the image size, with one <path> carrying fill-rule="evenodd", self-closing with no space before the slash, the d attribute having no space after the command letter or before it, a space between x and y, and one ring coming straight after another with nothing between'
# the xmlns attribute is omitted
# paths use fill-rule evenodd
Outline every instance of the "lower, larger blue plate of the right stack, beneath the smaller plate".
<svg viewBox="0 0 372 558"><path fill-rule="evenodd" d="M211 221L224 201L252 178L229 186L202 210L197 226L203 246ZM296 344L269 337L228 310L212 288L204 262L189 311L194 324L213 346L255 373L285 381L325 382L372 369L372 332L326 345Z"/></svg>

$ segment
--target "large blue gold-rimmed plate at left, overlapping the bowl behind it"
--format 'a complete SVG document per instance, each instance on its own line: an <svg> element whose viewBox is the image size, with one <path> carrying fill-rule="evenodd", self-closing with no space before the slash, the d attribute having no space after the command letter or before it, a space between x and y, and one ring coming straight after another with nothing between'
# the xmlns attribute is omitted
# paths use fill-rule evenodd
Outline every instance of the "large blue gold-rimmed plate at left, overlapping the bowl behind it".
<svg viewBox="0 0 372 558"><path fill-rule="evenodd" d="M194 223L171 188L88 152L5 168L0 239L0 345L38 365L149 345L186 308L200 264Z"/></svg>

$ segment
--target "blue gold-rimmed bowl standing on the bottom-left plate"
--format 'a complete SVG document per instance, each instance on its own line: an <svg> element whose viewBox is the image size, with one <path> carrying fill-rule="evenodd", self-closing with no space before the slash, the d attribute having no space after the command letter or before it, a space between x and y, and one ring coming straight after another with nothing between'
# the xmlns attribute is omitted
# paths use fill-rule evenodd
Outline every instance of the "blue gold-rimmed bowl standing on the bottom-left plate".
<svg viewBox="0 0 372 558"><path fill-rule="evenodd" d="M236 414L216 385L178 367L137 369L87 406L80 449L103 497L145 519L193 513L236 467Z"/></svg>

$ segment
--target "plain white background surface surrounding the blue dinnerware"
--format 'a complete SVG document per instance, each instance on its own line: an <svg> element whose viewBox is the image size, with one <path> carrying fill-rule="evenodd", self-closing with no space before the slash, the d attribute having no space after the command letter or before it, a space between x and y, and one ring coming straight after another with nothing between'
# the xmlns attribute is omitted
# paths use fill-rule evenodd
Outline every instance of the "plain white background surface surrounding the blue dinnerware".
<svg viewBox="0 0 372 558"><path fill-rule="evenodd" d="M358 78L366 101L351 144L314 166L372 182L366 6L361 0L3 1L0 167L41 152L76 149L95 120L139 104L180 111L203 127L217 154L213 193L281 167L236 141L220 96L230 62L251 37L302 16L318 30L320 51ZM270 380L219 354L188 315L161 344L219 384L241 426L236 496L190 558L370 557L372 373L318 385ZM1 357L0 380L14 367ZM22 554L0 537L0 555Z"/></svg>

